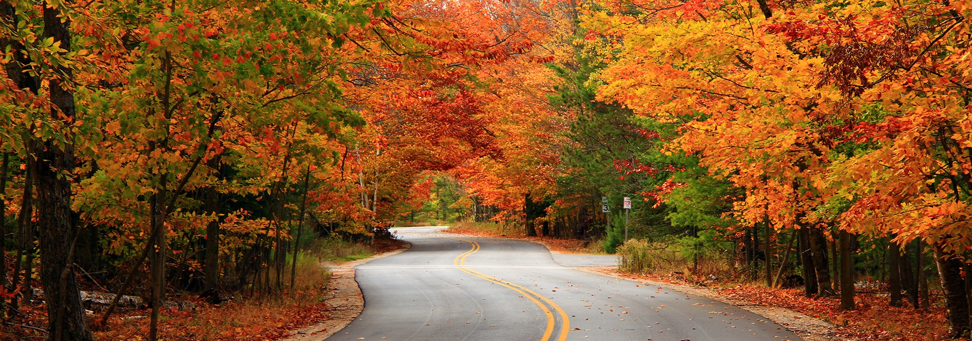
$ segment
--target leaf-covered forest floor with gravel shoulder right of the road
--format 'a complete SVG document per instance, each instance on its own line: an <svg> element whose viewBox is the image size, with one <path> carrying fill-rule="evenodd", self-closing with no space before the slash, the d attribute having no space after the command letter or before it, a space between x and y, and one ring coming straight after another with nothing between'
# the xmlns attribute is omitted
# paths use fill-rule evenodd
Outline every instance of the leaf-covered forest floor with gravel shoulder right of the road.
<svg viewBox="0 0 972 341"><path fill-rule="evenodd" d="M538 242L554 253L603 254L597 243L578 239L544 236L501 235L461 228L443 232L486 237L526 239ZM631 274L617 266L577 267L616 278L642 282L645 286L665 286L686 294L718 299L762 315L786 326L808 341L823 340L948 340L945 308L941 297L932 297L930 308L891 307L887 293L877 290L855 295L856 310L840 309L839 297L806 297L801 289L772 289L748 281L687 278L687 272ZM907 305L908 303L905 303Z"/></svg>

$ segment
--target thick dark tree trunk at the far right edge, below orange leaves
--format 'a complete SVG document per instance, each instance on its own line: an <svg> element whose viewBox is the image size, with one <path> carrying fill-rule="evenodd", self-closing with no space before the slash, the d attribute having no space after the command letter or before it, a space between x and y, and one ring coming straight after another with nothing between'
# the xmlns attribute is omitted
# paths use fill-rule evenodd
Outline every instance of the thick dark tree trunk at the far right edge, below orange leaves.
<svg viewBox="0 0 972 341"><path fill-rule="evenodd" d="M969 332L969 301L965 295L965 281L962 279L962 261L935 245L935 263L938 276L945 292L946 317L950 332L955 337L967 336Z"/></svg>

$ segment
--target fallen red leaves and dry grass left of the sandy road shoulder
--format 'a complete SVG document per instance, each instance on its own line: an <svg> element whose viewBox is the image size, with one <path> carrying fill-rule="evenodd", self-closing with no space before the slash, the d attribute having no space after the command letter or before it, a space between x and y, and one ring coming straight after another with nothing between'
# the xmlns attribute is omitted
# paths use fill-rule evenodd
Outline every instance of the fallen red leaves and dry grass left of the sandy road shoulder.
<svg viewBox="0 0 972 341"><path fill-rule="evenodd" d="M222 304L209 304L194 294L183 298L191 309L163 308L159 317L159 334L171 340L275 340L290 336L291 330L328 319L330 270L323 263L340 263L364 259L399 245L394 240L376 240L363 245L336 237L312 241L297 255L295 290L290 287L290 264L283 276L281 292L245 296L249 291L235 293ZM233 294L233 293L228 293ZM43 306L23 307L40 309ZM146 340L149 311L126 310L115 315L104 330L96 330L98 340ZM43 321L37 321L43 326ZM34 325L31 323L31 325ZM15 331L17 332L17 331ZM2 332L0 332L2 335Z"/></svg>

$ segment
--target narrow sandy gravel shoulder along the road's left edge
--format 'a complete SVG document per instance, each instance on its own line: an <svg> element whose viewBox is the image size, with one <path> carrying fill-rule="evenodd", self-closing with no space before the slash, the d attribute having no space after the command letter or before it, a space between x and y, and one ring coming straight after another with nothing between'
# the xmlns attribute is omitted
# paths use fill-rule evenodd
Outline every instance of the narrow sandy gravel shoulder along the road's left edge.
<svg viewBox="0 0 972 341"><path fill-rule="evenodd" d="M399 239L401 240L401 239ZM355 266L368 263L377 259L395 256L407 251L412 244L401 240L404 247L385 253L380 253L365 259L336 263L328 266L330 268L330 280L328 281L329 297L325 300L332 310L344 310L344 313L334 319L324 320L315 325L308 325L291 331L291 337L284 341L317 341L324 340L341 330L352 321L358 318L364 311L364 295L362 289L355 279Z"/></svg>

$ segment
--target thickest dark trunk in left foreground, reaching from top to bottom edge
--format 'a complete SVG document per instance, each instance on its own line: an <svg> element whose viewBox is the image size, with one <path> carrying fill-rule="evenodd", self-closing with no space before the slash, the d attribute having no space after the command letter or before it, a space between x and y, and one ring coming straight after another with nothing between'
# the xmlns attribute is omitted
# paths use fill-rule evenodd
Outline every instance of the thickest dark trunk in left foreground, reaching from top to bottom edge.
<svg viewBox="0 0 972 341"><path fill-rule="evenodd" d="M52 6L56 4L49 3L44 8L44 36L53 38L61 48L70 51L68 23L61 21L66 18ZM65 67L57 69L61 77L68 79L52 78L50 81L51 117L63 117L71 122L75 112L74 95L61 85L71 78L71 71ZM71 182L69 176L61 174L61 171L75 168L74 148L53 140L38 146L39 150L34 153L37 156L37 218L42 227L38 239L41 246L40 277L48 303L48 339L92 340L70 255L77 233L71 224ZM65 247L67 245L71 247Z"/></svg>

